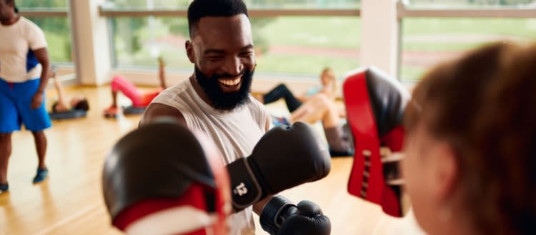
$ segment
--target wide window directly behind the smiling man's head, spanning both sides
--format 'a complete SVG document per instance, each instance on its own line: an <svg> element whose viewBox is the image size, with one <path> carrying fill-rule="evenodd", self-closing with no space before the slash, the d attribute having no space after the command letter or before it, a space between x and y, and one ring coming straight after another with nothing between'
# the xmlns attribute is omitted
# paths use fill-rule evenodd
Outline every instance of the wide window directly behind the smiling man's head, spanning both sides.
<svg viewBox="0 0 536 235"><path fill-rule="evenodd" d="M189 39L184 15L190 2L114 0L104 4L104 11L114 11L107 15L114 35L114 66L152 67L162 56L171 68L191 70L184 51L184 41ZM245 2L251 11L257 73L316 78L326 66L337 75L359 66L359 0ZM314 16L309 10L314 10ZM345 11L344 16L333 13L337 10ZM167 13L151 16L154 11Z"/></svg>

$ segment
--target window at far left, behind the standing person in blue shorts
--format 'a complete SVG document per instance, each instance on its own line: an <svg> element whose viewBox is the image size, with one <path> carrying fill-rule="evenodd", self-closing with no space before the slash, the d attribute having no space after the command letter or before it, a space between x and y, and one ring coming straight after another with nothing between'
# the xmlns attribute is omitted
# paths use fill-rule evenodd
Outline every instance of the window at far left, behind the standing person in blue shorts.
<svg viewBox="0 0 536 235"><path fill-rule="evenodd" d="M36 23L45 33L52 63L71 62L71 33L67 18L66 0L17 0L16 6L23 15ZM40 16L31 16L36 12ZM64 16L47 16L47 13L64 13Z"/></svg>

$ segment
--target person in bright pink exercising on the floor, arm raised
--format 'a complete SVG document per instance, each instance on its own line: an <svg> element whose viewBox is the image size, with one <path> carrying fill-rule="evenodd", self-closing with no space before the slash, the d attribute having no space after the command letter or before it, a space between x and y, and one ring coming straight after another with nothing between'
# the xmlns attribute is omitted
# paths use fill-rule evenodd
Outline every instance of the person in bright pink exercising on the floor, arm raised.
<svg viewBox="0 0 536 235"><path fill-rule="evenodd" d="M109 108L106 108L106 110L104 110L105 117L116 117L116 115L119 115L119 113L121 113L121 110L117 108L117 93L119 91L121 91L123 95L125 95L132 101L132 107L146 108L147 105L151 103L153 98L157 97L157 95L162 92L162 90L166 89L164 71L165 63L162 57L159 57L158 61L160 87L156 90L144 93L142 92L142 90L139 90L136 85L134 85L134 83L131 83L129 80L126 80L126 78L122 77L121 75L114 76L114 78L111 80L111 105Z"/></svg>

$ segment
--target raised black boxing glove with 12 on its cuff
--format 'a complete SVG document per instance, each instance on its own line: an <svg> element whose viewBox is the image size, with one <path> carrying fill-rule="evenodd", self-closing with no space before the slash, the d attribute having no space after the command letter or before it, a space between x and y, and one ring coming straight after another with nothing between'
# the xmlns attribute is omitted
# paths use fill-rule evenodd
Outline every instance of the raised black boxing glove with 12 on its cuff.
<svg viewBox="0 0 536 235"><path fill-rule="evenodd" d="M303 122L269 130L252 155L227 165L233 207L239 211L284 189L327 176L331 157L312 127Z"/></svg>

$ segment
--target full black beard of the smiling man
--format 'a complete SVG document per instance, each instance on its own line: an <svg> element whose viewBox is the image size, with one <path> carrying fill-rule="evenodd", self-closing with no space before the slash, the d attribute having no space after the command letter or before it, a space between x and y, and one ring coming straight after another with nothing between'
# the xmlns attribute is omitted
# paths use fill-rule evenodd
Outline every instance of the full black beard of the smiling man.
<svg viewBox="0 0 536 235"><path fill-rule="evenodd" d="M199 71L197 66L194 67L194 70L195 79L204 93L207 94L210 105L212 105L213 108L217 110L229 111L244 105L249 101L249 89L252 86L254 71L244 69L244 71L240 73L242 75L242 80L240 81L242 84L240 84L240 89L235 92L224 93L222 89L219 88L218 79L232 78L236 77L237 75L230 75L227 73L214 74L209 78Z"/></svg>

